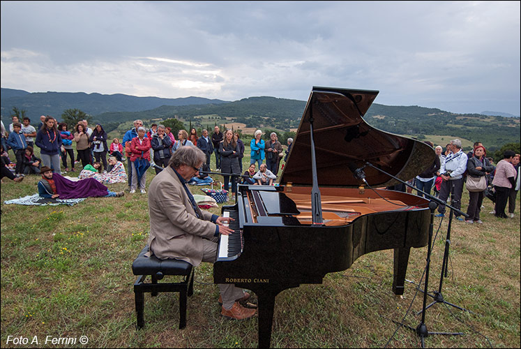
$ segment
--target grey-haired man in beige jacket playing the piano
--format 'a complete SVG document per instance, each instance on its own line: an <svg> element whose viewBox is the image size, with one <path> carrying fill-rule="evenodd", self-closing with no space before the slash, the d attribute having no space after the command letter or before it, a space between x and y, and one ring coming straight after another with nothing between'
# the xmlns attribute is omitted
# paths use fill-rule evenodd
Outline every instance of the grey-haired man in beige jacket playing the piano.
<svg viewBox="0 0 521 349"><path fill-rule="evenodd" d="M219 234L233 232L225 218L202 211L186 181L194 177L206 155L196 147L177 149L165 170L151 181L149 188L150 252L157 258L185 260L197 267L201 262L215 262ZM242 320L255 315L255 309L239 304L250 297L232 284L219 284L221 314Z"/></svg>

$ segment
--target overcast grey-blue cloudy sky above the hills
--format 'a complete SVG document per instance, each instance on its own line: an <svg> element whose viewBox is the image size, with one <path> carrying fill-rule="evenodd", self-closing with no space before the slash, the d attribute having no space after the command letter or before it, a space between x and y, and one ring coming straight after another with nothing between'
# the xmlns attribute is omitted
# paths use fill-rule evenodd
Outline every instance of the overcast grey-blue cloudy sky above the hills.
<svg viewBox="0 0 521 349"><path fill-rule="evenodd" d="M520 115L519 1L1 1L1 87Z"/></svg>

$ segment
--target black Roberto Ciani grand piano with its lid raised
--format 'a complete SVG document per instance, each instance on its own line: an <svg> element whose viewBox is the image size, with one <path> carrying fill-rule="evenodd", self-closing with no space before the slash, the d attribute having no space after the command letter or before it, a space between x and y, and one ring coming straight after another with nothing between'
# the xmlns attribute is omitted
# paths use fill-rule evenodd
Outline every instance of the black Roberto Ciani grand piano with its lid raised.
<svg viewBox="0 0 521 349"><path fill-rule="evenodd" d="M382 188L434 162L427 144L372 128L363 115L378 91L313 87L280 186L239 186L222 208L234 233L221 236L214 283L258 298L259 347L271 341L275 296L394 249L393 292L404 292L411 247L428 244L428 200ZM358 171L365 163L365 181Z"/></svg>

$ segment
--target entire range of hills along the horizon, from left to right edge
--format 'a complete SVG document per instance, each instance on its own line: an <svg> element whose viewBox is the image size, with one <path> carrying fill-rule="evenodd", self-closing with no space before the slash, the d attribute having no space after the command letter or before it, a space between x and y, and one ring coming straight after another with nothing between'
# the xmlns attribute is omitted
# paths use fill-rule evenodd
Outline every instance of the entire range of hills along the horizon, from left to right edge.
<svg viewBox="0 0 521 349"><path fill-rule="evenodd" d="M64 110L79 109L90 114L93 122L119 124L122 127L121 123L129 123L135 119L142 119L149 125L153 121L176 118L185 123L185 128L188 128L188 123L196 128L206 128L213 127L214 124L236 122L246 124L246 128L287 132L299 126L305 104L306 101L269 96L227 102L199 97L169 99L81 92L29 93L1 89L1 115L6 126L10 124L9 115L13 107L17 107L19 110L26 110L27 116L32 120L38 120L42 114L61 120ZM418 140L434 140L438 135L441 138L437 140L439 144L453 138L462 138L469 142L479 140L487 144L488 149L499 149L503 144L519 142L520 117L497 114L505 113L455 114L417 105L374 103L364 119L379 130L412 135Z"/></svg>

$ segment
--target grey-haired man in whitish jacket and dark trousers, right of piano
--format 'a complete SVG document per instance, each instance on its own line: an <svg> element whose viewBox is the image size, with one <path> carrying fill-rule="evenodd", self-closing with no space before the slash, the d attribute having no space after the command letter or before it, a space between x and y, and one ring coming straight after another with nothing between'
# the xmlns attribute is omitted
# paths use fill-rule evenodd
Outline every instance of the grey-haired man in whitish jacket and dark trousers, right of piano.
<svg viewBox="0 0 521 349"><path fill-rule="evenodd" d="M448 195L453 193L451 205L455 209L461 209L461 195L463 193L463 173L467 170L467 154L461 150L461 141L458 139L451 140L451 154L448 154L445 161L441 163L439 172L441 173L441 188L439 191L439 199L446 201ZM445 205L438 206L437 217L445 215ZM465 221L458 212L455 212L458 221Z"/></svg>

